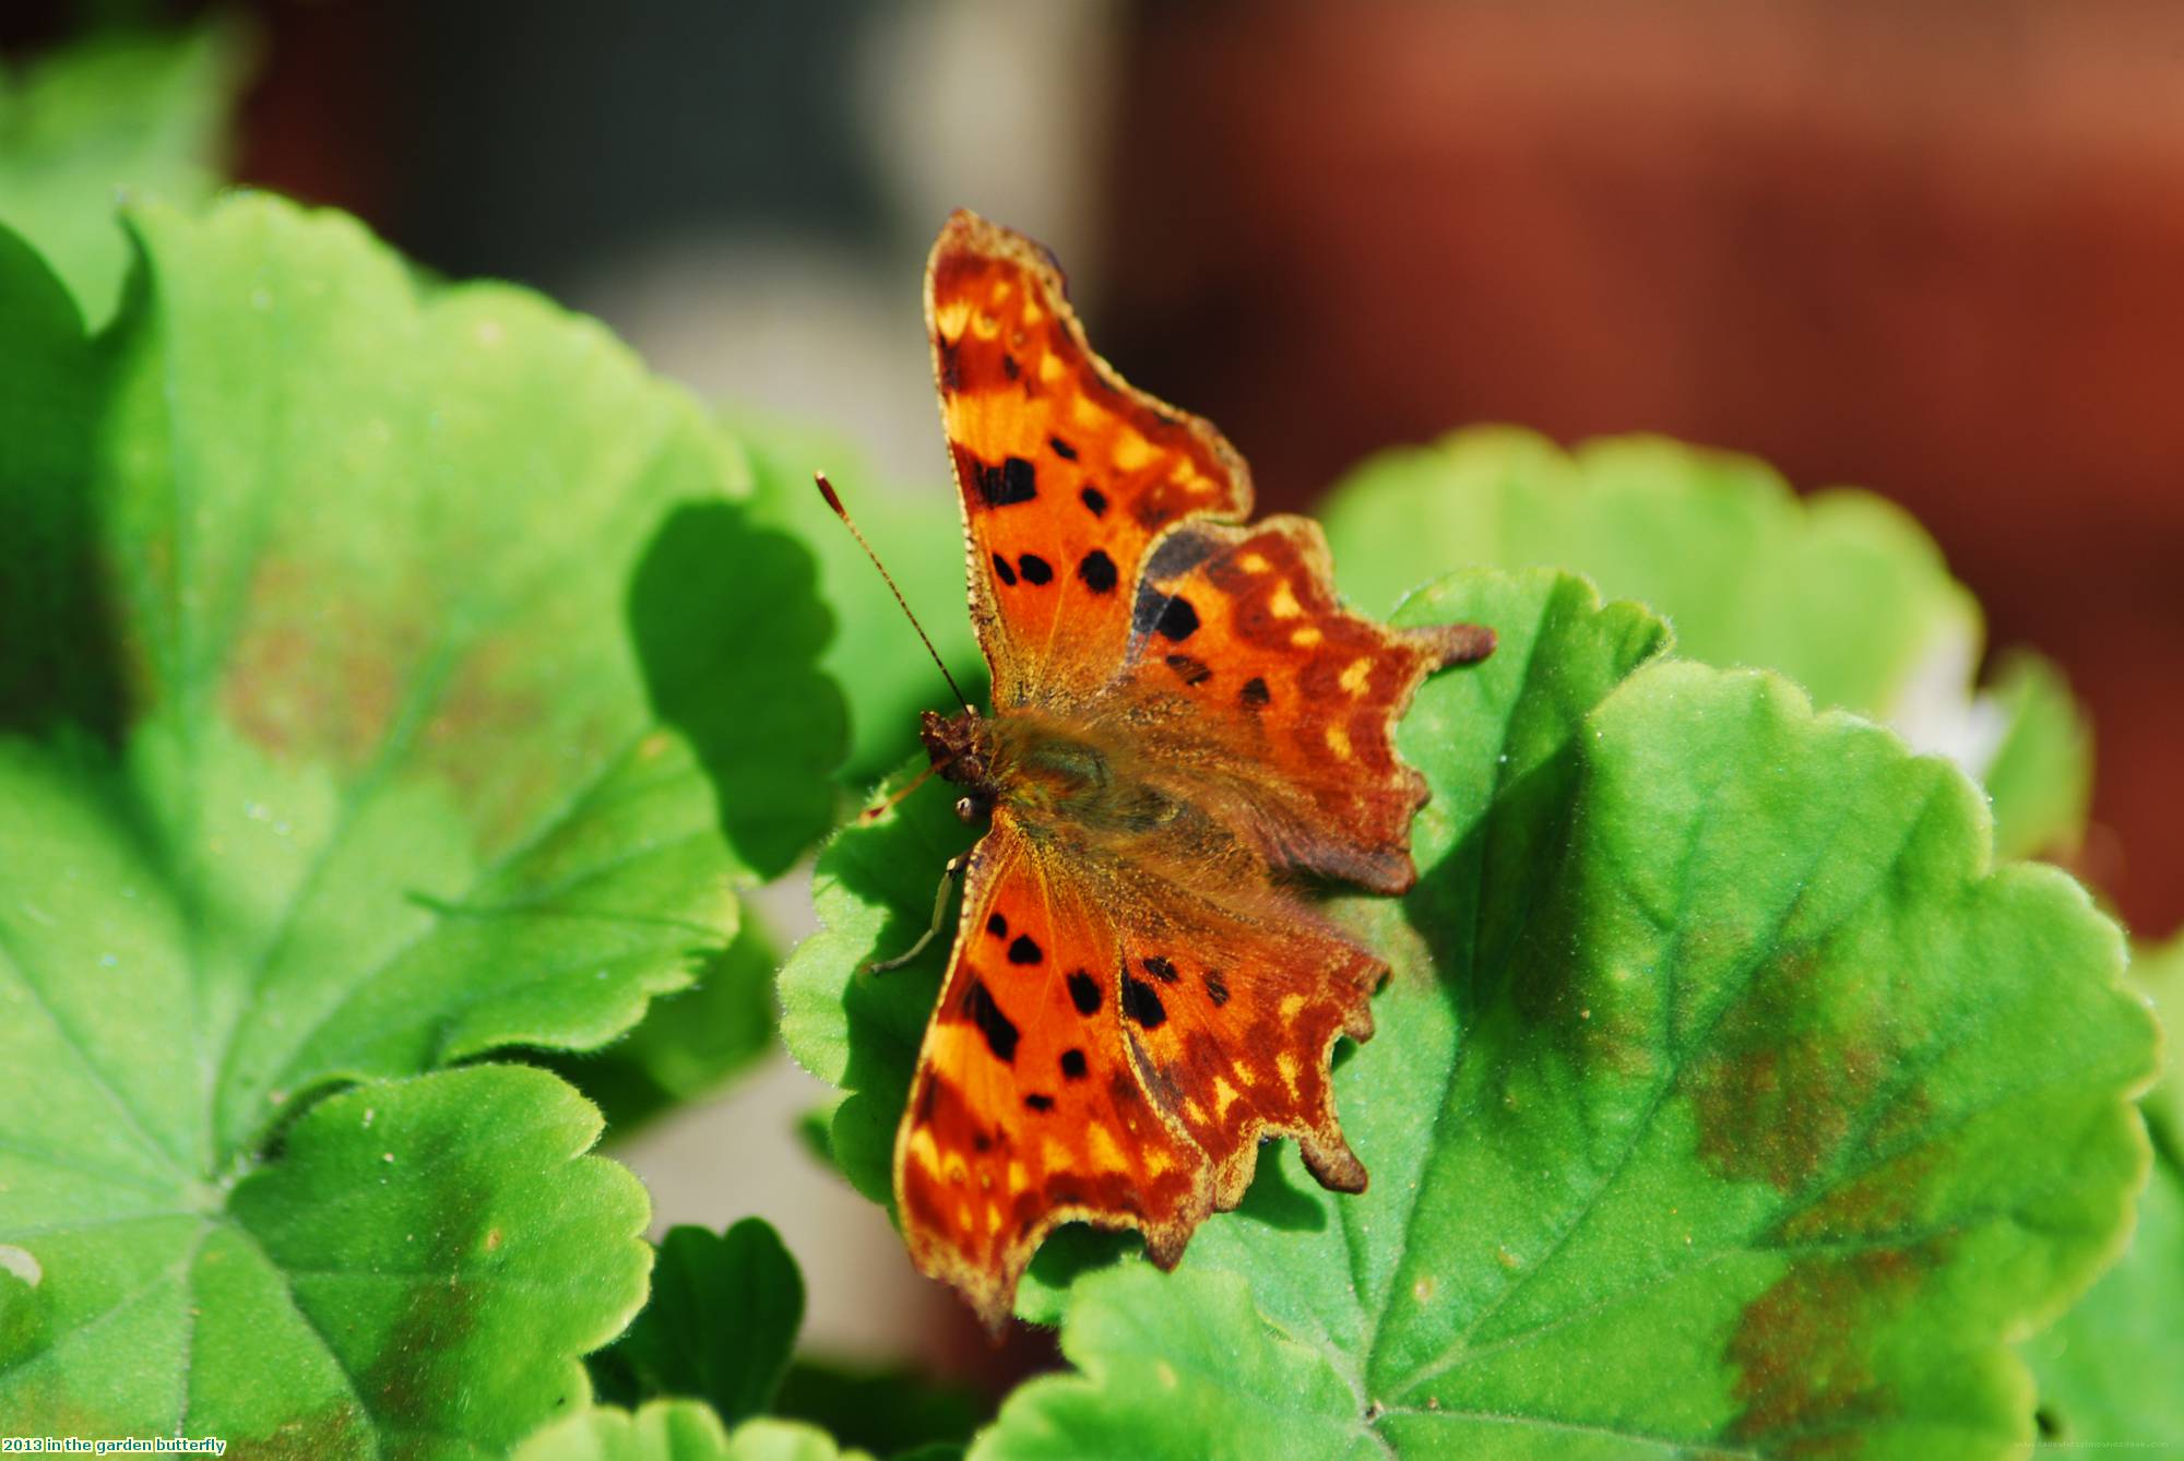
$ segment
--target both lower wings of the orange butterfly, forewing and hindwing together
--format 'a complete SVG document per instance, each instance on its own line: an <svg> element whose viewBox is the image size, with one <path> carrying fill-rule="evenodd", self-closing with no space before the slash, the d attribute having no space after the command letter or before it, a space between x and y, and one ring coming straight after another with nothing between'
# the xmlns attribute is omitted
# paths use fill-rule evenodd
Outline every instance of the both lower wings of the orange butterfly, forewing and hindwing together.
<svg viewBox="0 0 2184 1461"><path fill-rule="evenodd" d="M1136 1227L1162 1267L1234 1208L1262 1136L1363 1190L1328 1053L1372 1035L1385 963L1216 841L1035 834L978 843L948 976L895 1140L919 1271L1000 1326L1059 1223Z"/></svg>

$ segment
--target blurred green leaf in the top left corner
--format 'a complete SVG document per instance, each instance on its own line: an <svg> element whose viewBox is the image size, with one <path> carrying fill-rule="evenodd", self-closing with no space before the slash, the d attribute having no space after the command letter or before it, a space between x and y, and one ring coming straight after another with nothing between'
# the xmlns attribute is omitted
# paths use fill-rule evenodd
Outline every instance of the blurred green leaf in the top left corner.
<svg viewBox="0 0 2184 1461"><path fill-rule="evenodd" d="M249 46L236 26L100 35L0 74L0 223L68 280L85 319L120 297L124 190L199 203L221 183Z"/></svg>

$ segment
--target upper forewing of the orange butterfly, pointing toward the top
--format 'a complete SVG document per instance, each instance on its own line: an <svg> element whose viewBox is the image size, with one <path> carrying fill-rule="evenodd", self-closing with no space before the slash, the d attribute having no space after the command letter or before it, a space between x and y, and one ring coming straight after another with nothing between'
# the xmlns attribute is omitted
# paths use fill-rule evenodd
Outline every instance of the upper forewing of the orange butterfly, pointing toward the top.
<svg viewBox="0 0 2184 1461"><path fill-rule="evenodd" d="M1022 234L948 218L926 328L994 705L1103 684L1147 546L1175 522L1249 513L1249 470L1208 421L1092 354L1061 271Z"/></svg>

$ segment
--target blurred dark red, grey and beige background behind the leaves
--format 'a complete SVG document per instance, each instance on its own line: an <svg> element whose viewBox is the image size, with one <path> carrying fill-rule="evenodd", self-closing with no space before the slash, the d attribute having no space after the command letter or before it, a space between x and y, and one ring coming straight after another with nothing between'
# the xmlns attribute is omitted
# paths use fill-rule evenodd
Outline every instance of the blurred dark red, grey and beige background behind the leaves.
<svg viewBox="0 0 2184 1461"><path fill-rule="evenodd" d="M0 48L203 9L7 0ZM919 271L957 205L1048 242L1101 349L1214 417L1265 509L1468 421L1872 487L2088 705L2079 871L2140 935L2184 919L2175 0L223 9L253 33L234 177L823 424L852 500L948 491ZM769 911L784 946L808 926L802 891ZM662 1223L773 1219L815 1347L1022 1363L804 1155L819 1094L775 1059L622 1155Z"/></svg>

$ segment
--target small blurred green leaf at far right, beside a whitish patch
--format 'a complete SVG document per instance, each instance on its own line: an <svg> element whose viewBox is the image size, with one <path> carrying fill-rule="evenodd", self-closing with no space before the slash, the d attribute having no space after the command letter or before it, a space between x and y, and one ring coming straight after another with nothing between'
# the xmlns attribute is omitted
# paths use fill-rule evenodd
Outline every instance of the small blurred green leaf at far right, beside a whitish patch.
<svg viewBox="0 0 2184 1461"><path fill-rule="evenodd" d="M1979 780L1994 804L1994 854L2075 854L2092 808L2092 727L2070 684L2040 655L2014 653L1990 701L2003 738Z"/></svg>

